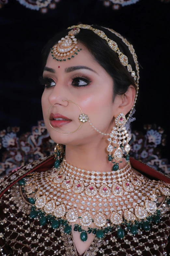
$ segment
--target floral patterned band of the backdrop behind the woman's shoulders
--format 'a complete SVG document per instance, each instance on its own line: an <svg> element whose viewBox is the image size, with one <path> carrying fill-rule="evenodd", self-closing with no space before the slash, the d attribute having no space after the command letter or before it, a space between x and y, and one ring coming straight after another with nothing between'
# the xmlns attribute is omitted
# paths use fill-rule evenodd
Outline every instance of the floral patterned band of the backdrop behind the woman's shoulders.
<svg viewBox="0 0 170 256"><path fill-rule="evenodd" d="M152 168L170 176L170 164L162 159L161 150L166 144L166 135L161 127L144 125L144 132L132 130L130 156L146 163ZM54 151L55 143L51 140L44 121L32 127L31 132L20 134L20 127L8 127L0 131L0 176L9 171L31 163L41 157L49 156Z"/></svg>

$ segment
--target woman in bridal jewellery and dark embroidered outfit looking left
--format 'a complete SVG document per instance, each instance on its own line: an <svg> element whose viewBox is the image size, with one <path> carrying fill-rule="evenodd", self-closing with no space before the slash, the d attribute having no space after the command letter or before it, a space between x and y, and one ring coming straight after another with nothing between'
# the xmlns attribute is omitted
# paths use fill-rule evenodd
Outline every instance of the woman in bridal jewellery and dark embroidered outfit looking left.
<svg viewBox="0 0 170 256"><path fill-rule="evenodd" d="M43 58L42 110L57 145L1 179L0 255L169 255L170 179L129 158L133 46L78 25Z"/></svg>

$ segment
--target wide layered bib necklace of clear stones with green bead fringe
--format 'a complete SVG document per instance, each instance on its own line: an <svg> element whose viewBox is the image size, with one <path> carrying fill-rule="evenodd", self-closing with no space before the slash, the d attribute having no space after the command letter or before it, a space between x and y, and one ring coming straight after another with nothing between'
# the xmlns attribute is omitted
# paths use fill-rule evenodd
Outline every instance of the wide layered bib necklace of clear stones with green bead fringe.
<svg viewBox="0 0 170 256"><path fill-rule="evenodd" d="M170 203L168 184L136 174L129 161L117 171L95 172L64 159L58 168L33 173L19 183L33 204L30 218L37 218L40 226L50 222L54 229L63 225L67 234L74 223L84 242L91 232L103 238L115 227L120 238L125 230L134 235L138 228L149 231L151 222L161 220L159 197L167 196Z"/></svg>

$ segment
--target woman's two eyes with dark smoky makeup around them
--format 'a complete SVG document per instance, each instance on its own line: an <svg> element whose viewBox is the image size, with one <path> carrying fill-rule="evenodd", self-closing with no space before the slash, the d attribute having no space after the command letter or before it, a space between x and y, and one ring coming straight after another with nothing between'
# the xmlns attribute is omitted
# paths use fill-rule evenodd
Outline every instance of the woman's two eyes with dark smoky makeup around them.
<svg viewBox="0 0 170 256"><path fill-rule="evenodd" d="M74 87L85 87L91 83L90 79L88 77L83 76L74 76L72 79L72 86ZM44 88L50 88L52 86L55 86L55 81L50 77L39 77L39 82L41 85L45 85Z"/></svg>

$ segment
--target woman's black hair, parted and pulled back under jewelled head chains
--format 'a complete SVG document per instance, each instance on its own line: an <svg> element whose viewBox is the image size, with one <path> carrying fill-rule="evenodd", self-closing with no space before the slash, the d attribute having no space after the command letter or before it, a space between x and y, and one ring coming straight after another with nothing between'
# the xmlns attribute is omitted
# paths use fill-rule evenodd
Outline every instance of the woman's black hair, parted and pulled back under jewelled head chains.
<svg viewBox="0 0 170 256"><path fill-rule="evenodd" d="M128 57L128 64L132 66L132 70L137 73L133 56L128 46L123 41L113 34L111 31L101 27L92 26L93 28L102 30L106 36L115 41L118 44L120 51ZM68 34L68 29L61 31L56 34L44 47L43 49L43 68L46 65L47 58L50 53L50 49ZM130 85L135 87L134 77L127 70L127 67L123 66L119 60L119 56L115 53L108 45L106 40L95 34L90 29L81 29L79 34L76 35L78 42L82 43L92 54L94 59L106 70L106 72L113 78L113 101L116 95L122 95L126 93ZM79 53L81 54L81 52ZM128 114L127 114L128 115Z"/></svg>

